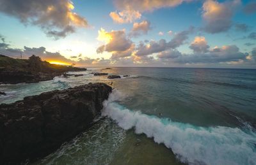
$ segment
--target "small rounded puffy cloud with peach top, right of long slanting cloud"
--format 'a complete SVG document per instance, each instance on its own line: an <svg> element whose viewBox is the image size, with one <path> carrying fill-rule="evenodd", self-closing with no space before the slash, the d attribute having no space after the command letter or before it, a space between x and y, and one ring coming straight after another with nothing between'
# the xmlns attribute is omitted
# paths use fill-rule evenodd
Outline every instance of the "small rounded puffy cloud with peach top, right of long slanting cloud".
<svg viewBox="0 0 256 165"><path fill-rule="evenodd" d="M206 39L202 36L196 36L189 48L196 54L202 54L209 51L209 45L207 45Z"/></svg>

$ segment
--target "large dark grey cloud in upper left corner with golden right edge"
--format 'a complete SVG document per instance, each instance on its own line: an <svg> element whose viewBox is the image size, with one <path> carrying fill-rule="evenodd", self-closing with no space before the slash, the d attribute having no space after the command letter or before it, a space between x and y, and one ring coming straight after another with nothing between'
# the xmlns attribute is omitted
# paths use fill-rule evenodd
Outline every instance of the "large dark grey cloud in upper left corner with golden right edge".
<svg viewBox="0 0 256 165"><path fill-rule="evenodd" d="M38 25L47 36L63 38L76 30L87 27L85 18L74 13L70 0L3 0L0 12L16 17L23 24Z"/></svg>

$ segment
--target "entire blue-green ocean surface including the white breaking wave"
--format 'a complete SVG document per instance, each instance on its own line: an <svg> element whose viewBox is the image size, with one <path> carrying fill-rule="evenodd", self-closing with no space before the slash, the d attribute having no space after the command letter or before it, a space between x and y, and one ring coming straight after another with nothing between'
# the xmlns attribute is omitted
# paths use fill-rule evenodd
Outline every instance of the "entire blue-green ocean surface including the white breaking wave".
<svg viewBox="0 0 256 165"><path fill-rule="evenodd" d="M113 82L96 124L33 164L256 164L255 69L88 68L73 74L84 75L0 85L7 94L0 103L13 103Z"/></svg>

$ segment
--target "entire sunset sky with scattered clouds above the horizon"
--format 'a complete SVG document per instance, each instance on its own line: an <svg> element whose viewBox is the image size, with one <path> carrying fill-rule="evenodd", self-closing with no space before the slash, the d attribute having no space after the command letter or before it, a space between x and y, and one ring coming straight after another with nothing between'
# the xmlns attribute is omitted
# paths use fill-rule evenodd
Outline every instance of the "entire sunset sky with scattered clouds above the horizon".
<svg viewBox="0 0 256 165"><path fill-rule="evenodd" d="M256 1L0 0L0 54L76 66L256 69Z"/></svg>

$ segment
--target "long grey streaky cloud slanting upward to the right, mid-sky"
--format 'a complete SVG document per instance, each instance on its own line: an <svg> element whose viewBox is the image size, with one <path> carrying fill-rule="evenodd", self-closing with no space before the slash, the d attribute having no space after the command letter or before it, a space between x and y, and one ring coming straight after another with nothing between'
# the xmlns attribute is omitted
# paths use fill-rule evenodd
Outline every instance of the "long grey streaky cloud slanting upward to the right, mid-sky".
<svg viewBox="0 0 256 165"><path fill-rule="evenodd" d="M159 41L150 41L147 44L141 42L140 45L138 45L138 51L136 52L136 55L150 55L162 52L164 50L168 50L170 48L175 49L177 47L180 47L180 45L183 45L184 41L188 39L188 35L191 34L191 32L193 31L194 28L190 27L186 31L178 32L169 42L167 42L165 39L160 39Z"/></svg>

